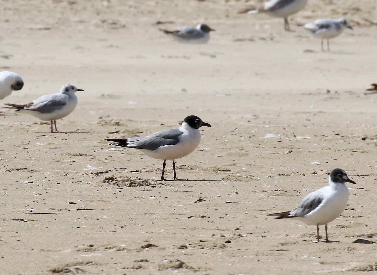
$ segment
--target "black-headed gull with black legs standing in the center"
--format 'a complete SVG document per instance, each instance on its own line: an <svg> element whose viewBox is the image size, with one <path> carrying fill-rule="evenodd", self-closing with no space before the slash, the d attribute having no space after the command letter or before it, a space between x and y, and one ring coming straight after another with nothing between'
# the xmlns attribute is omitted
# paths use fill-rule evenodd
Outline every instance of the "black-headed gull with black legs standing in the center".
<svg viewBox="0 0 377 275"><path fill-rule="evenodd" d="M198 147L201 134L199 128L211 127L197 116L187 116L182 127L158 131L149 136L139 136L128 139L106 139L115 143L111 145L135 148L153 159L163 159L161 180L164 178L166 160L173 161L174 180L179 180L175 173L175 159L187 156Z"/></svg>

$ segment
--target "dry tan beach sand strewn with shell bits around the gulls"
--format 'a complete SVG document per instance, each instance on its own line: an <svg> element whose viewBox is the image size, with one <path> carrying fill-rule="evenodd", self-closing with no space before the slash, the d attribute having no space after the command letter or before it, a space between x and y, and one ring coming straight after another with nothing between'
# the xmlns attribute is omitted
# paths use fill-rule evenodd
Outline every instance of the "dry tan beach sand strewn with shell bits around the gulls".
<svg viewBox="0 0 377 275"><path fill-rule="evenodd" d="M253 3L0 1L0 70L25 81L2 103L66 83L85 90L57 122L66 134L3 109L1 274L375 269L376 244L353 242L377 241L377 95L364 95L377 81L376 2L309 0L290 18L294 32L281 18L237 14ZM323 17L354 26L331 52L295 26ZM158 31L203 22L216 29L204 45ZM187 115L212 128L176 160L185 181L161 182L162 161L104 141L178 127ZM357 182L329 224L338 242L313 243L315 226L266 217L337 167Z"/></svg>

